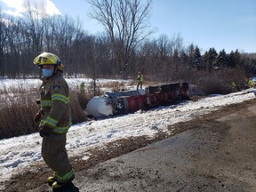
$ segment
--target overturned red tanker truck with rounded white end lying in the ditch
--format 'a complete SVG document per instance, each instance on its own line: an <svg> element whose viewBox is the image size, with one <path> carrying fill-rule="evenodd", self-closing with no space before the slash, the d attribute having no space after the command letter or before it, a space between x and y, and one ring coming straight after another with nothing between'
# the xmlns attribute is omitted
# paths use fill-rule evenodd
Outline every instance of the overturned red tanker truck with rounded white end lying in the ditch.
<svg viewBox="0 0 256 192"><path fill-rule="evenodd" d="M86 113L95 118L106 118L171 105L176 100L188 100L188 83L148 86L138 91L106 92L89 100Z"/></svg>

